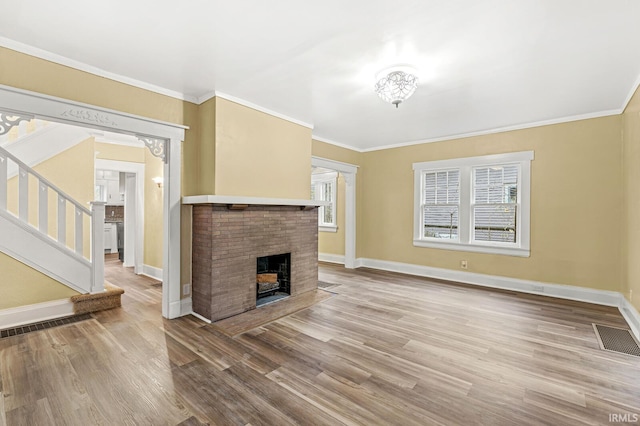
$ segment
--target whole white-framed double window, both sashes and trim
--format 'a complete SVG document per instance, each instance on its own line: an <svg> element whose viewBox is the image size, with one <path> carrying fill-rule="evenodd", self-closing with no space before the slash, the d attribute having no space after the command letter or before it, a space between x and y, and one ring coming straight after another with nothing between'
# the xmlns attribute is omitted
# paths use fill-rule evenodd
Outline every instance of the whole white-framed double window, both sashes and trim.
<svg viewBox="0 0 640 426"><path fill-rule="evenodd" d="M533 151L414 163L414 245L529 256Z"/></svg>

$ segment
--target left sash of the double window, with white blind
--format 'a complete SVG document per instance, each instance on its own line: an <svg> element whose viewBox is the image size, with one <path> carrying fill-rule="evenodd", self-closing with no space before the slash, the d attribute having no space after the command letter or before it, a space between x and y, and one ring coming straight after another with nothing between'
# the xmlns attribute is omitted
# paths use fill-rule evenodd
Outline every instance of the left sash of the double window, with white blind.
<svg viewBox="0 0 640 426"><path fill-rule="evenodd" d="M425 173L423 199L423 236L457 240L460 220L460 171Z"/></svg>

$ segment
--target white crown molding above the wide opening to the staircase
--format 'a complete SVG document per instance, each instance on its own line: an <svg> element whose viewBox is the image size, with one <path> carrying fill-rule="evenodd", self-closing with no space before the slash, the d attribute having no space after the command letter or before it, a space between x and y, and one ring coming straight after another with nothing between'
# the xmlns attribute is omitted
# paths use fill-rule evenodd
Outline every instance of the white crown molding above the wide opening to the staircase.
<svg viewBox="0 0 640 426"><path fill-rule="evenodd" d="M48 50L29 46L28 44L20 43L6 37L0 37L0 46L10 50L15 50L16 52L24 53L26 55L34 56L36 58L44 59L49 62L64 65L79 71L84 71L89 74L94 74L99 77L108 78L109 80L128 84L129 86L138 87L150 92L179 99L181 101L188 101L193 103L197 102L197 98L195 96L187 96L184 93L180 93L175 90L166 89L164 87L156 86L155 84L150 84L141 80L136 80L134 78L112 73L110 71L105 71L102 68L94 67L92 65L85 64L84 62L76 61L74 59L67 58L66 56L49 52Z"/></svg>

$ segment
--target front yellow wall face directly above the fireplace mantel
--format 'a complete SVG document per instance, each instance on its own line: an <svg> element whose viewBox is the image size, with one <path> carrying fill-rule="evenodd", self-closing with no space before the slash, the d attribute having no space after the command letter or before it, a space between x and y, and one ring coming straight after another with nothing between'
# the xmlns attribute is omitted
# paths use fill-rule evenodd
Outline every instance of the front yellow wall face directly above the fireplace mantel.
<svg viewBox="0 0 640 426"><path fill-rule="evenodd" d="M217 98L215 194L309 199L311 129Z"/></svg>

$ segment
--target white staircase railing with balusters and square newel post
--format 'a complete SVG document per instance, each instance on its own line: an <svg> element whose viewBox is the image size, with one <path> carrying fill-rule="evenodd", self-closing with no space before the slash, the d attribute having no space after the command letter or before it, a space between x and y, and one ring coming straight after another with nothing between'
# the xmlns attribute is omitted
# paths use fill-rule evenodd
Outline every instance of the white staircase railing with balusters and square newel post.
<svg viewBox="0 0 640 426"><path fill-rule="evenodd" d="M18 175L13 178L8 174L10 162L18 169ZM36 190L37 194L34 193ZM56 205L50 205L50 200ZM0 147L0 216L74 258L75 264L83 269L82 273L65 271L51 275L64 277L65 284L89 293L104 291L104 204L92 202L91 210L87 209ZM55 230L50 229L50 225L55 226ZM24 259L26 256L23 253L16 257ZM65 265L68 269L69 264ZM51 265L44 269L48 271Z"/></svg>

